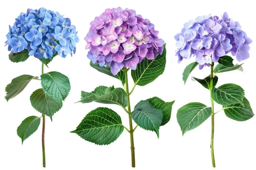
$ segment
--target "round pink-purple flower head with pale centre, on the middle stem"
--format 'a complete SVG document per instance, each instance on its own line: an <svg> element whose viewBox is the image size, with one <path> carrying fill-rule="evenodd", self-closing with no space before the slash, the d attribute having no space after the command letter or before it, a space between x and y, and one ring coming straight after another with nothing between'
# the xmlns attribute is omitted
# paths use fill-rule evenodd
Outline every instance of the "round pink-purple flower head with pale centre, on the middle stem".
<svg viewBox="0 0 256 170"><path fill-rule="evenodd" d="M123 67L135 70L144 58L153 60L163 52L164 40L158 38L154 24L134 10L106 9L90 25L87 57L94 64L109 65L113 75Z"/></svg>

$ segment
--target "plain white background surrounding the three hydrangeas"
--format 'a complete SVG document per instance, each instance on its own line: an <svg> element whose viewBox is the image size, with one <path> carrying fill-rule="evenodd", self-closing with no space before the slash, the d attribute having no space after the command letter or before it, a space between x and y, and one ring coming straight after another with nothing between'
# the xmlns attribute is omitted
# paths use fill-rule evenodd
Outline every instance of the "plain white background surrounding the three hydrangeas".
<svg viewBox="0 0 256 170"><path fill-rule="evenodd" d="M3 3L3 2L1 2ZM225 11L230 18L240 22L243 31L253 40L250 44L249 59L244 61L244 71L231 71L220 73L217 86L225 83L235 83L245 90L245 97L251 103L256 112L255 100L255 6L251 0L224 1L224 0L26 0L4 1L0 5L1 31L1 80L0 80L0 169L1 170L255 170L256 169L256 117L248 121L238 122L227 118L224 112L216 115L215 131L215 159L216 168L211 165L210 133L211 120L207 119L198 128L186 132L182 136L180 126L177 123L177 110L189 102L201 102L210 106L209 91L199 83L188 79L184 85L182 72L186 65L194 62L184 60L177 64L175 56L174 35L179 33L183 24L199 15L221 16ZM76 26L80 42L77 43L76 54L55 57L45 67L45 73L59 71L70 78L71 91L66 98L63 108L53 116L51 122L46 119L45 147L46 168L42 166L41 153L41 129L26 139L22 145L21 139L16 134L16 128L21 121L28 116L40 116L32 108L29 96L40 88L39 81L31 81L27 88L18 96L7 102L4 99L5 86L11 79L23 74L40 76L41 63L34 57L29 57L25 62L13 63L8 59L9 51L4 46L9 25L13 25L20 12L26 12L27 8L46 9L58 11L64 17L71 19ZM166 102L175 100L171 120L165 126L160 127L160 136L157 139L155 132L135 130L135 159L136 168L131 168L130 139L126 130L114 143L108 146L97 146L81 139L78 135L70 133L85 117L87 113L99 106L112 108L122 118L124 126L128 127L128 116L122 109L114 105L104 105L92 102L90 104L76 103L80 99L81 91L91 92L97 86L121 87L118 79L114 79L103 73L99 73L89 66L88 53L85 50L84 37L89 31L90 22L99 16L107 8L122 7L134 9L143 18L149 19L155 24L155 30L159 31L159 38L166 42L166 69L154 82L146 86L137 86L131 95L132 108L142 99L153 96L160 97ZM236 60L234 60L236 63ZM204 78L209 75L209 68L191 73L194 77ZM132 81L130 81L132 84ZM216 104L216 110L220 106Z"/></svg>

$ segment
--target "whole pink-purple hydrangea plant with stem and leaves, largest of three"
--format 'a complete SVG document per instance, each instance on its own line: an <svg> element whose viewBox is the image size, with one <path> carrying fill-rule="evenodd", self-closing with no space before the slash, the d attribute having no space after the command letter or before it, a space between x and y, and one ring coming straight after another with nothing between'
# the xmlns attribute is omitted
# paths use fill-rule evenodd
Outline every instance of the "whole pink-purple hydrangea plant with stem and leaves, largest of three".
<svg viewBox="0 0 256 170"><path fill-rule="evenodd" d="M121 117L114 110L99 107L88 113L72 132L94 144L108 145L125 129L130 134L132 167L135 167L133 132L140 126L156 132L159 137L159 127L169 121L174 103L152 97L141 99L134 110L130 105L130 95L136 85L145 86L164 72L165 43L157 34L150 20L137 15L132 9L118 7L106 9L90 22L90 30L85 36L90 66L119 79L122 88L98 86L92 92L82 91L79 102L121 106L128 115L129 127L122 124ZM131 90L128 84L129 72L134 83ZM133 121L136 123L135 128Z"/></svg>

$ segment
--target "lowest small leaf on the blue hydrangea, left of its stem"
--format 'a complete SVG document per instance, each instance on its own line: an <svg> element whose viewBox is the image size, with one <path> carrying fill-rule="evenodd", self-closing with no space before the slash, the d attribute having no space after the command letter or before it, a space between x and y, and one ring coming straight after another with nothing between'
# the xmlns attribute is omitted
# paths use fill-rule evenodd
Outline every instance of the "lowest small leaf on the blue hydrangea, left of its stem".
<svg viewBox="0 0 256 170"><path fill-rule="evenodd" d="M17 128L17 135L21 138L22 144L25 139L32 135L40 125L40 117L29 116L24 119Z"/></svg>

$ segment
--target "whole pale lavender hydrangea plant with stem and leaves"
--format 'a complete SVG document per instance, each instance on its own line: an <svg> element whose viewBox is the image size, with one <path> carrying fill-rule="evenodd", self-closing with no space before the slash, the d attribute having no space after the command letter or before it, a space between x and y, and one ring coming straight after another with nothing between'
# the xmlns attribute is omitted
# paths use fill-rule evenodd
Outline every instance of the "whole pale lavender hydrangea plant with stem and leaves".
<svg viewBox="0 0 256 170"><path fill-rule="evenodd" d="M246 121L254 116L243 88L232 83L217 87L216 74L242 70L242 64L233 64L234 59L229 54L236 57L238 62L246 60L249 58L249 44L252 40L241 29L239 22L229 18L227 12L221 18L210 14L186 22L182 31L175 35L175 40L177 41L175 55L178 56L178 63L191 57L195 60L184 69L184 84L197 66L200 70L209 67L210 74L207 77L193 78L209 90L211 106L199 102L186 104L177 110L177 121L184 135L185 132L200 126L211 117L211 157L212 165L215 167L214 115L224 111L227 117L236 121ZM216 103L222 105L218 111L214 110Z"/></svg>

